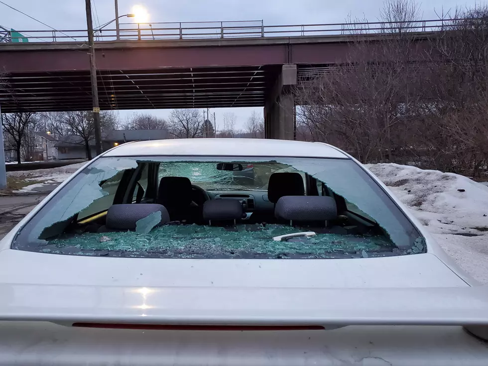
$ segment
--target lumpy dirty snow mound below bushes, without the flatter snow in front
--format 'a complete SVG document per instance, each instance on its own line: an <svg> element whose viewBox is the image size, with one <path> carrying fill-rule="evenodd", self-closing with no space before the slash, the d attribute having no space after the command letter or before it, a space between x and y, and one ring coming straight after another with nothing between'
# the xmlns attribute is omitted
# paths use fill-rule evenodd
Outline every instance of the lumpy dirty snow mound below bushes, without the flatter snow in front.
<svg viewBox="0 0 488 366"><path fill-rule="evenodd" d="M488 187L462 175L398 164L369 164L433 234L488 231Z"/></svg>

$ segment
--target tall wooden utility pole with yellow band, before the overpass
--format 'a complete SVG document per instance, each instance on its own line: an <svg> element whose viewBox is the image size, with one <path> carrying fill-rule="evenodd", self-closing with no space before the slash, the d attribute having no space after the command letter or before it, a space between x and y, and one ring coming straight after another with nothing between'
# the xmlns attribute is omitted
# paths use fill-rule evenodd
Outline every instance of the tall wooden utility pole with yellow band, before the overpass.
<svg viewBox="0 0 488 366"><path fill-rule="evenodd" d="M103 152L102 131L100 130L100 105L98 103L97 66L95 63L95 44L93 41L92 4L85 0L87 11L88 50L90 54L90 81L92 84L93 124L95 129L95 149L97 155Z"/></svg>

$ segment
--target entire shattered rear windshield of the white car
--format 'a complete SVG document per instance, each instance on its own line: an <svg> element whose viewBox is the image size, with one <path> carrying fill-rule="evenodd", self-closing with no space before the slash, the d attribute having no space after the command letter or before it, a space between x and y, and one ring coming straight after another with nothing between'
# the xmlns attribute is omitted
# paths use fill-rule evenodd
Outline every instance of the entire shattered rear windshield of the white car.
<svg viewBox="0 0 488 366"><path fill-rule="evenodd" d="M312 203L330 197L334 215L284 220L273 202L282 195L306 195ZM239 202L242 216L206 219L205 203L215 200ZM425 251L415 227L350 159L174 156L93 161L20 230L12 248L228 259L367 258Z"/></svg>

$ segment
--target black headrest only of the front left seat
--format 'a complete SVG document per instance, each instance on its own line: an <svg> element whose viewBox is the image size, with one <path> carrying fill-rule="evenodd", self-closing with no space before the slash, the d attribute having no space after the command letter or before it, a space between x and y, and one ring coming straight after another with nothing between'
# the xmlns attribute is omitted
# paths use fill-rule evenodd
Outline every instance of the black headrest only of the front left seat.
<svg viewBox="0 0 488 366"><path fill-rule="evenodd" d="M186 177L162 177L157 202L166 207L190 205L192 183Z"/></svg>

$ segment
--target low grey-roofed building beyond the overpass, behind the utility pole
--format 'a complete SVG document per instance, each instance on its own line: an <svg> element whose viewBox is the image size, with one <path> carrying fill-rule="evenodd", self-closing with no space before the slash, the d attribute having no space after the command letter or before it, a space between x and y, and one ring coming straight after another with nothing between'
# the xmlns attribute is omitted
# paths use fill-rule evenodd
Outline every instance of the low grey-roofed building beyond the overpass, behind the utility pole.
<svg viewBox="0 0 488 366"><path fill-rule="evenodd" d="M112 130L102 135L102 147L104 151L107 151L125 142L165 138L168 138L168 131L165 129ZM95 138L92 138L88 144L91 156L97 156ZM84 159L88 157L85 142L80 136L63 136L54 146L58 149L58 159Z"/></svg>

